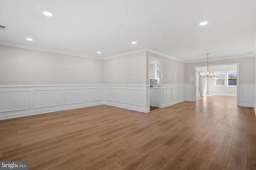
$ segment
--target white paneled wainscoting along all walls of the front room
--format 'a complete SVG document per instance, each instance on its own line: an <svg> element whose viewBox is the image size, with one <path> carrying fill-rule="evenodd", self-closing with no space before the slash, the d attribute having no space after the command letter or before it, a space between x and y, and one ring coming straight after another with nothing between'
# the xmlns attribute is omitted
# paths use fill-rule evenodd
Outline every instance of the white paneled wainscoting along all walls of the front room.
<svg viewBox="0 0 256 170"><path fill-rule="evenodd" d="M254 107L255 84L240 84L240 105ZM90 84L0 86L0 119L49 113L80 107L110 105L149 112L149 85ZM162 106L195 102L194 84L163 84Z"/></svg>

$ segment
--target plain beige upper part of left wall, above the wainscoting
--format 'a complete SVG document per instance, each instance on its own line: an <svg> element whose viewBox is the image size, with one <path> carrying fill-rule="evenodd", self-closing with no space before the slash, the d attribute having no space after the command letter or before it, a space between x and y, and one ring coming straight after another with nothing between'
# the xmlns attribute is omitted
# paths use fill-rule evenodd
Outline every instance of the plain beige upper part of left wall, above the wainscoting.
<svg viewBox="0 0 256 170"><path fill-rule="evenodd" d="M104 61L0 45L0 85L103 84Z"/></svg>

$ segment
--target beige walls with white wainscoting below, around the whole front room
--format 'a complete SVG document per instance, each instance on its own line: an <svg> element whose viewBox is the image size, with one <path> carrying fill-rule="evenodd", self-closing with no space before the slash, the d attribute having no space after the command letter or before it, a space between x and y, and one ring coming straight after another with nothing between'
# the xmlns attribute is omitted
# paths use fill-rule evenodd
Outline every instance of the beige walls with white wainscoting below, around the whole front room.
<svg viewBox="0 0 256 170"><path fill-rule="evenodd" d="M99 104L148 112L149 56L162 59L162 107L194 101L194 66L202 62L185 64L146 51L103 61L1 45L0 119ZM249 84L240 86L241 101L250 106L255 104L255 58L212 64L235 61L243 70L240 83Z"/></svg>

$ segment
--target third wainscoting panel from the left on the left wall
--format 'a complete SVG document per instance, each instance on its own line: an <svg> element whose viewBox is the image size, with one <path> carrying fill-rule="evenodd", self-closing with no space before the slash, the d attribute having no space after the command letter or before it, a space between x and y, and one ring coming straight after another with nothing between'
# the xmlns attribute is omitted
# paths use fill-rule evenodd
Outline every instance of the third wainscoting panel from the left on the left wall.
<svg viewBox="0 0 256 170"><path fill-rule="evenodd" d="M64 89L64 104L84 103L84 88Z"/></svg>

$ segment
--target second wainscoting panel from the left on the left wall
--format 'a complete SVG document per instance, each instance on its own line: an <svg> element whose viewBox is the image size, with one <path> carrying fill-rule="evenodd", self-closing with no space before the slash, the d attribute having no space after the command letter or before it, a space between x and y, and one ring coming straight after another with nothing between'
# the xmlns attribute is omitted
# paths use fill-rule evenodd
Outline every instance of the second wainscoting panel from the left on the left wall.
<svg viewBox="0 0 256 170"><path fill-rule="evenodd" d="M61 90L34 90L34 108L61 105Z"/></svg>

